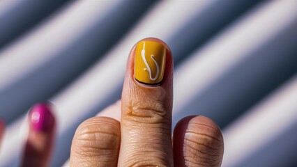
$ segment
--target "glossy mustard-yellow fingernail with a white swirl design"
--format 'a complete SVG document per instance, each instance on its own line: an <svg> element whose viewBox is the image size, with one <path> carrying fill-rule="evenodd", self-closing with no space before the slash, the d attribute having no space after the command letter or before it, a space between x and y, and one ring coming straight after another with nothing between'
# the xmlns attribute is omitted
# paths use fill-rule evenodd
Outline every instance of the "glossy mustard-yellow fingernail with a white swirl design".
<svg viewBox="0 0 297 167"><path fill-rule="evenodd" d="M159 42L141 41L135 51L135 79L142 84L159 84L164 77L166 48Z"/></svg>

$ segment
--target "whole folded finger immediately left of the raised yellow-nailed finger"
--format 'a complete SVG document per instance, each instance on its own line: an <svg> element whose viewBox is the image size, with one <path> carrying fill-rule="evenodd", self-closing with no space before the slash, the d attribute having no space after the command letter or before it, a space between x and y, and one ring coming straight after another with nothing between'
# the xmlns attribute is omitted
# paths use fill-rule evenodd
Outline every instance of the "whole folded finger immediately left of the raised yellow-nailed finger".
<svg viewBox="0 0 297 167"><path fill-rule="evenodd" d="M120 123L107 117L93 117L77 128L70 152L70 166L117 166Z"/></svg>

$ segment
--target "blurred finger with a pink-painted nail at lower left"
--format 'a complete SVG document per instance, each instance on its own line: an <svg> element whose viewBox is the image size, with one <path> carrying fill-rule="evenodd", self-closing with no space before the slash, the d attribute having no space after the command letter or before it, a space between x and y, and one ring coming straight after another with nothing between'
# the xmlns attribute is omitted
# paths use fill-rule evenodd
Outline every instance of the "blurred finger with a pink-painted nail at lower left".
<svg viewBox="0 0 297 167"><path fill-rule="evenodd" d="M40 103L29 113L29 134L22 166L48 166L52 154L55 119L52 104Z"/></svg>

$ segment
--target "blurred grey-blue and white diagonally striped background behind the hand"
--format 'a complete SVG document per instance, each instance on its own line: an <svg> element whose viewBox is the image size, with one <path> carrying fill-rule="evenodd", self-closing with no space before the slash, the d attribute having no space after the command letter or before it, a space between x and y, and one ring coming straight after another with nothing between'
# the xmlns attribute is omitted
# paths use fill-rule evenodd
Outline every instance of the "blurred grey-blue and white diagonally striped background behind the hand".
<svg viewBox="0 0 297 167"><path fill-rule="evenodd" d="M222 166L297 166L297 1L0 1L0 166L18 166L29 108L58 120L51 166L77 126L121 98L132 45L174 55L173 127L212 118ZM119 113L111 113L118 117Z"/></svg>

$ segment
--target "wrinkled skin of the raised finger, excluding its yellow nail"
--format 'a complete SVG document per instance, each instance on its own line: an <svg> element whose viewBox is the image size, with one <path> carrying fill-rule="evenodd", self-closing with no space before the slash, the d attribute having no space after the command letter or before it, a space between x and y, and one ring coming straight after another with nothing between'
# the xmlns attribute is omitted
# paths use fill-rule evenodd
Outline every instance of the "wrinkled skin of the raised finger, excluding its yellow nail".
<svg viewBox="0 0 297 167"><path fill-rule="evenodd" d="M165 45L165 42L156 39ZM122 93L121 166L172 166L172 72L167 47L163 82L158 86L139 84L134 79L135 47L129 56ZM144 142L145 141L145 142ZM146 157L146 159L144 159Z"/></svg>

